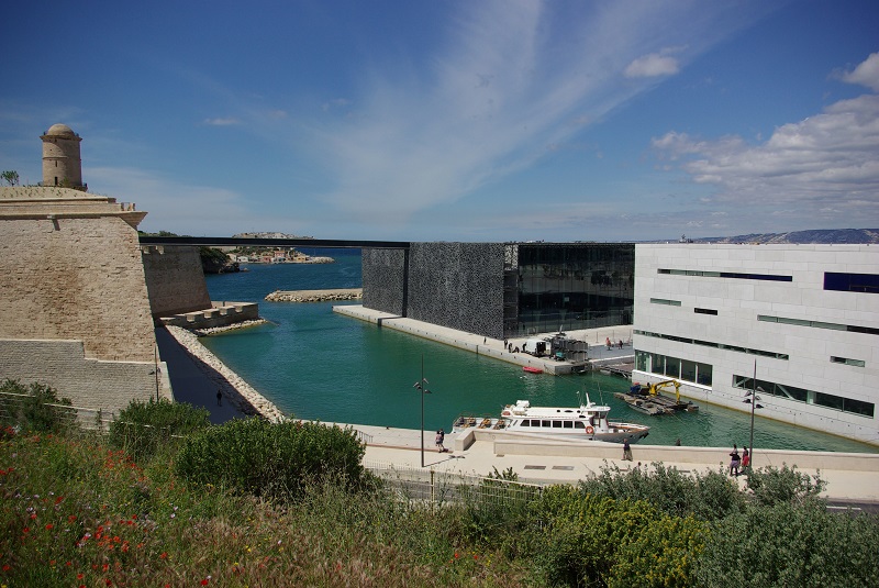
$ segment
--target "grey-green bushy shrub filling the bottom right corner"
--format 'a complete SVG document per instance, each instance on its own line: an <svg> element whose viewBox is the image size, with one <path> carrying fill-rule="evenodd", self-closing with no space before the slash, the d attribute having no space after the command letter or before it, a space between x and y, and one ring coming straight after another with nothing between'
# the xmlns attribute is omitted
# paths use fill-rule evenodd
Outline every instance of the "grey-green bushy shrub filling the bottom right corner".
<svg viewBox="0 0 879 588"><path fill-rule="evenodd" d="M754 504L714 523L697 564L699 586L874 587L879 520L828 512L819 501Z"/></svg>

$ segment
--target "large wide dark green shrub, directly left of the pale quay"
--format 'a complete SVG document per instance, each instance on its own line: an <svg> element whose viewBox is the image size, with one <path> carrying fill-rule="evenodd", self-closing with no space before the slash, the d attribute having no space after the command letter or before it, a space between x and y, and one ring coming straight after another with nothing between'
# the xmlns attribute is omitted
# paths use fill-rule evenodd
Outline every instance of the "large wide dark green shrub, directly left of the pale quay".
<svg viewBox="0 0 879 588"><path fill-rule="evenodd" d="M176 467L196 482L297 499L304 485L326 478L346 488L358 486L364 479L364 451L353 429L235 419L189 436Z"/></svg>

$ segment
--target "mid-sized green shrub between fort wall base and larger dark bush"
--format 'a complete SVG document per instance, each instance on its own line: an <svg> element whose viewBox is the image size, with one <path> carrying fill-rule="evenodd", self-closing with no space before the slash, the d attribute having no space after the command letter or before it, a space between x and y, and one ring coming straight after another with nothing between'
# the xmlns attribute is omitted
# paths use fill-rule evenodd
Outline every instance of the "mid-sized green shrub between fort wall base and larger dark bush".
<svg viewBox="0 0 879 588"><path fill-rule="evenodd" d="M209 426L210 412L185 402L133 400L110 423L110 443L137 461L148 459L175 436Z"/></svg>

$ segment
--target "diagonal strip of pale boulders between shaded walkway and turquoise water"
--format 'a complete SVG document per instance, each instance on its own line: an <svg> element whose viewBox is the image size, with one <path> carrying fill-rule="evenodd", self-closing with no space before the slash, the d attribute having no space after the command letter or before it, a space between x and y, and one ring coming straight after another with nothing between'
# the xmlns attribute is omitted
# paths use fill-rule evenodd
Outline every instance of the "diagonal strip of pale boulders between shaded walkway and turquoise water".
<svg viewBox="0 0 879 588"><path fill-rule="evenodd" d="M280 422L285 419L283 412L278 407L257 392L241 376L226 367L204 345L199 343L199 339L194 333L174 325L166 325L165 329L190 355L200 360L197 364L204 371L204 375L216 384L223 396L238 411L244 414L258 414L270 422Z"/></svg>

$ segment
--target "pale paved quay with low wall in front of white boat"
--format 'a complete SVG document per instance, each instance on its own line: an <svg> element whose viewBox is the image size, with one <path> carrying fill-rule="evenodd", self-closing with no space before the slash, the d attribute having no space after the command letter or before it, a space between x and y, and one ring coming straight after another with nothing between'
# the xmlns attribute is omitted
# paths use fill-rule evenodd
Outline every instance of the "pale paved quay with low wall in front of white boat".
<svg viewBox="0 0 879 588"><path fill-rule="evenodd" d="M330 424L330 423L327 423ZM421 469L421 431L371 425L344 425L356 430L366 443L364 463L370 468ZM487 477L509 468L525 484L577 484L601 473L605 466L623 470L663 463L687 474L726 471L732 447L632 445L634 461L622 459L615 443L572 444L479 432L447 433L447 453L438 453L434 431L424 432L424 473L433 470L460 476ZM472 436L474 439L468 439ZM879 454L757 450L754 467L797 466L798 471L820 475L827 487L822 497L834 502L879 504ZM736 478L741 488L746 476Z"/></svg>

